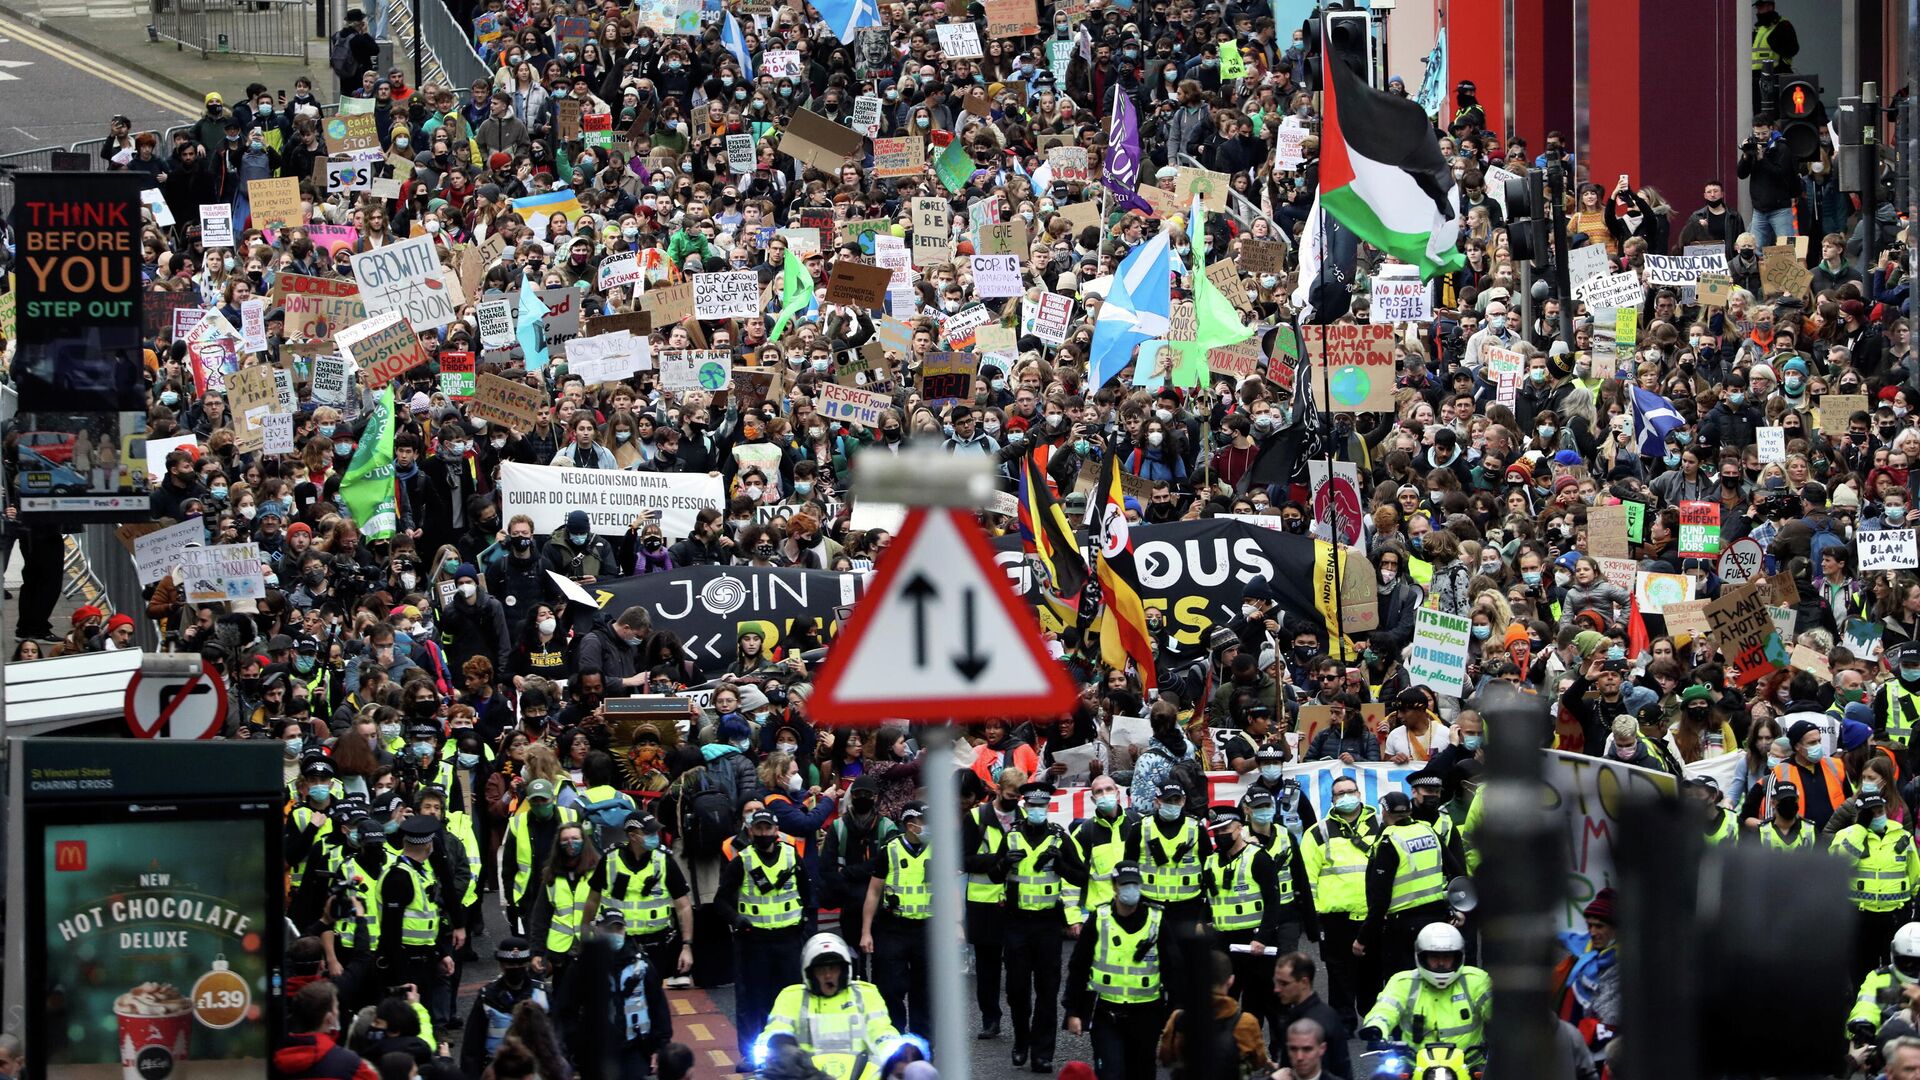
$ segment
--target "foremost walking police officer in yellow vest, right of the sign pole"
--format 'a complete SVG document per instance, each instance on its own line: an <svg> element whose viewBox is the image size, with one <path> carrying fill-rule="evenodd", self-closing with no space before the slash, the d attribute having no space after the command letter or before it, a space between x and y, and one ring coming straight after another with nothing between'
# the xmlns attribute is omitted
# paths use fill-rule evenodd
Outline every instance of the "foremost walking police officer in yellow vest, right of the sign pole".
<svg viewBox="0 0 1920 1080"><path fill-rule="evenodd" d="M1165 1020L1160 984L1164 917L1144 896L1140 865L1114 867L1114 899L1081 928L1068 959L1062 1009L1068 1034L1092 1028L1092 1068L1100 1080L1154 1080L1154 1045Z"/></svg>

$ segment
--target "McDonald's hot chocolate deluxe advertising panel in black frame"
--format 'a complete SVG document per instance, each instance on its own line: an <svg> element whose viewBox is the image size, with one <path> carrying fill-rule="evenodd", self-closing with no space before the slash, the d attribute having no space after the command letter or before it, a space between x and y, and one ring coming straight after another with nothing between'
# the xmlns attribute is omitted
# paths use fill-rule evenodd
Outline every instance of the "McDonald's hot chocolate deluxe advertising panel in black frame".
<svg viewBox="0 0 1920 1080"><path fill-rule="evenodd" d="M8 940L27 963L8 990L33 1003L29 1074L263 1076L286 947L276 748L15 748L25 924Z"/></svg>

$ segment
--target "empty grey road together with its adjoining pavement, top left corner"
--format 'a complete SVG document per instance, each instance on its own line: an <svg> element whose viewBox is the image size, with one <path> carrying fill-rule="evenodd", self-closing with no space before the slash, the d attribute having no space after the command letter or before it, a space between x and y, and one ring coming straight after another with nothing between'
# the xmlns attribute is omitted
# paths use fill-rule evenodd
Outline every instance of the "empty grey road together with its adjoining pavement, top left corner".
<svg viewBox="0 0 1920 1080"><path fill-rule="evenodd" d="M152 40L152 21L148 4L129 0L0 0L0 154L104 138L113 113L134 131L165 131L198 117L209 90L232 104L250 83L278 90L307 75L321 100L338 86L324 38L307 42L305 60L202 56Z"/></svg>

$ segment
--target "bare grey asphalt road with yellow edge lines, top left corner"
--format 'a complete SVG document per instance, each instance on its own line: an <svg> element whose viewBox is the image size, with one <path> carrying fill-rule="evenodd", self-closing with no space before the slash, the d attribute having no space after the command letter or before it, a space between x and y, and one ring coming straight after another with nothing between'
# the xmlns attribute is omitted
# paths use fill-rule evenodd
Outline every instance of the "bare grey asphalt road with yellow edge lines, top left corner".
<svg viewBox="0 0 1920 1080"><path fill-rule="evenodd" d="M0 154L102 138L115 113L134 131L157 133L200 111L198 102L12 17L0 17Z"/></svg>

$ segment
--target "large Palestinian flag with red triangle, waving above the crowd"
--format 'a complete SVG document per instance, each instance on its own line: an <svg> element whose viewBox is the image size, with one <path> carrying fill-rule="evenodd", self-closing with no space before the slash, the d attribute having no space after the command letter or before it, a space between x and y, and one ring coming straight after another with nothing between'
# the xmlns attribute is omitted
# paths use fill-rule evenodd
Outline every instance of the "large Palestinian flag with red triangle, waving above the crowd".
<svg viewBox="0 0 1920 1080"><path fill-rule="evenodd" d="M1325 31L1321 40L1321 208L1361 240L1421 267L1421 279L1461 269L1459 188L1427 111L1369 86L1363 56L1336 48Z"/></svg>

